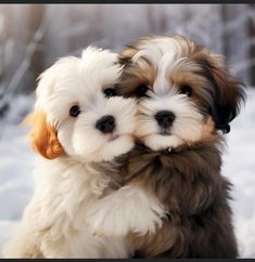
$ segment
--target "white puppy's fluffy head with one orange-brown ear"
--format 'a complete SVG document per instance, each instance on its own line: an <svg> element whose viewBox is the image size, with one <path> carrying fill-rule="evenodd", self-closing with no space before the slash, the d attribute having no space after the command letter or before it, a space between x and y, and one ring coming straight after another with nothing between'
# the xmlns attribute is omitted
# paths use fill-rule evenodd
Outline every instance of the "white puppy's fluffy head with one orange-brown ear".
<svg viewBox="0 0 255 262"><path fill-rule="evenodd" d="M116 96L117 54L89 47L64 57L39 78L33 123L34 148L43 157L112 160L133 146L135 103Z"/></svg>

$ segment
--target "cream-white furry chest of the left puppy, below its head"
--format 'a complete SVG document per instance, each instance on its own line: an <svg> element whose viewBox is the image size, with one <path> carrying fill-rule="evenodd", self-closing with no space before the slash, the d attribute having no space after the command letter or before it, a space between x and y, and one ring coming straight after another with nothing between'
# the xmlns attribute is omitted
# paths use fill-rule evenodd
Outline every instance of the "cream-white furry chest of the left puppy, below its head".
<svg viewBox="0 0 255 262"><path fill-rule="evenodd" d="M97 171L90 165L39 160L36 170L36 193L25 215L29 220L33 219L34 231L43 256L130 256L130 248L123 238L93 236L85 224L86 211L103 194L110 181L109 175Z"/></svg>

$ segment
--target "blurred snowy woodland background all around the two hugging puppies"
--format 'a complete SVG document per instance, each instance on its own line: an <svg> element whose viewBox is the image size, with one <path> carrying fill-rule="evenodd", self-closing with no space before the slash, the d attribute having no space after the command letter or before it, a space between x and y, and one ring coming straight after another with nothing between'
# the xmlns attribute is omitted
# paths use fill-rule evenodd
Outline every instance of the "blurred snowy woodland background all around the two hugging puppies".
<svg viewBox="0 0 255 262"><path fill-rule="evenodd" d="M20 126L36 79L89 44L120 51L144 34L180 34L227 57L247 102L227 136L240 256L255 258L255 4L0 4L0 253L34 191L34 153Z"/></svg>

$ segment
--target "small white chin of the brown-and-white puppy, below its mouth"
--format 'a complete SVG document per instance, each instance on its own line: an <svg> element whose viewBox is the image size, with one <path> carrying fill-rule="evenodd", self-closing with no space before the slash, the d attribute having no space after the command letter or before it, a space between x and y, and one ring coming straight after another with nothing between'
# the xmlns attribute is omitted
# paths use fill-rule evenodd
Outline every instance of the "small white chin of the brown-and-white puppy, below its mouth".
<svg viewBox="0 0 255 262"><path fill-rule="evenodd" d="M150 147L152 150L176 148L177 146L184 143L184 141L177 135L161 135L161 134L150 134L143 137L142 142L145 144L145 146Z"/></svg>

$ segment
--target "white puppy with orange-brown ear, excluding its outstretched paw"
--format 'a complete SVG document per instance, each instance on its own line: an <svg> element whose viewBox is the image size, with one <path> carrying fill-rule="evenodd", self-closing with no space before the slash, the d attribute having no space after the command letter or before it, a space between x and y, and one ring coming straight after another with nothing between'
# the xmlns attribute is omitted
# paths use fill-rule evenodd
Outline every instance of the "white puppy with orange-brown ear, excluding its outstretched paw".
<svg viewBox="0 0 255 262"><path fill-rule="evenodd" d="M117 54L90 47L40 76L27 121L33 146L43 157L35 170L35 195L5 257L131 256L125 238L94 236L85 222L88 210L120 186L116 157L133 146L135 103L115 96L113 88L120 74Z"/></svg>

